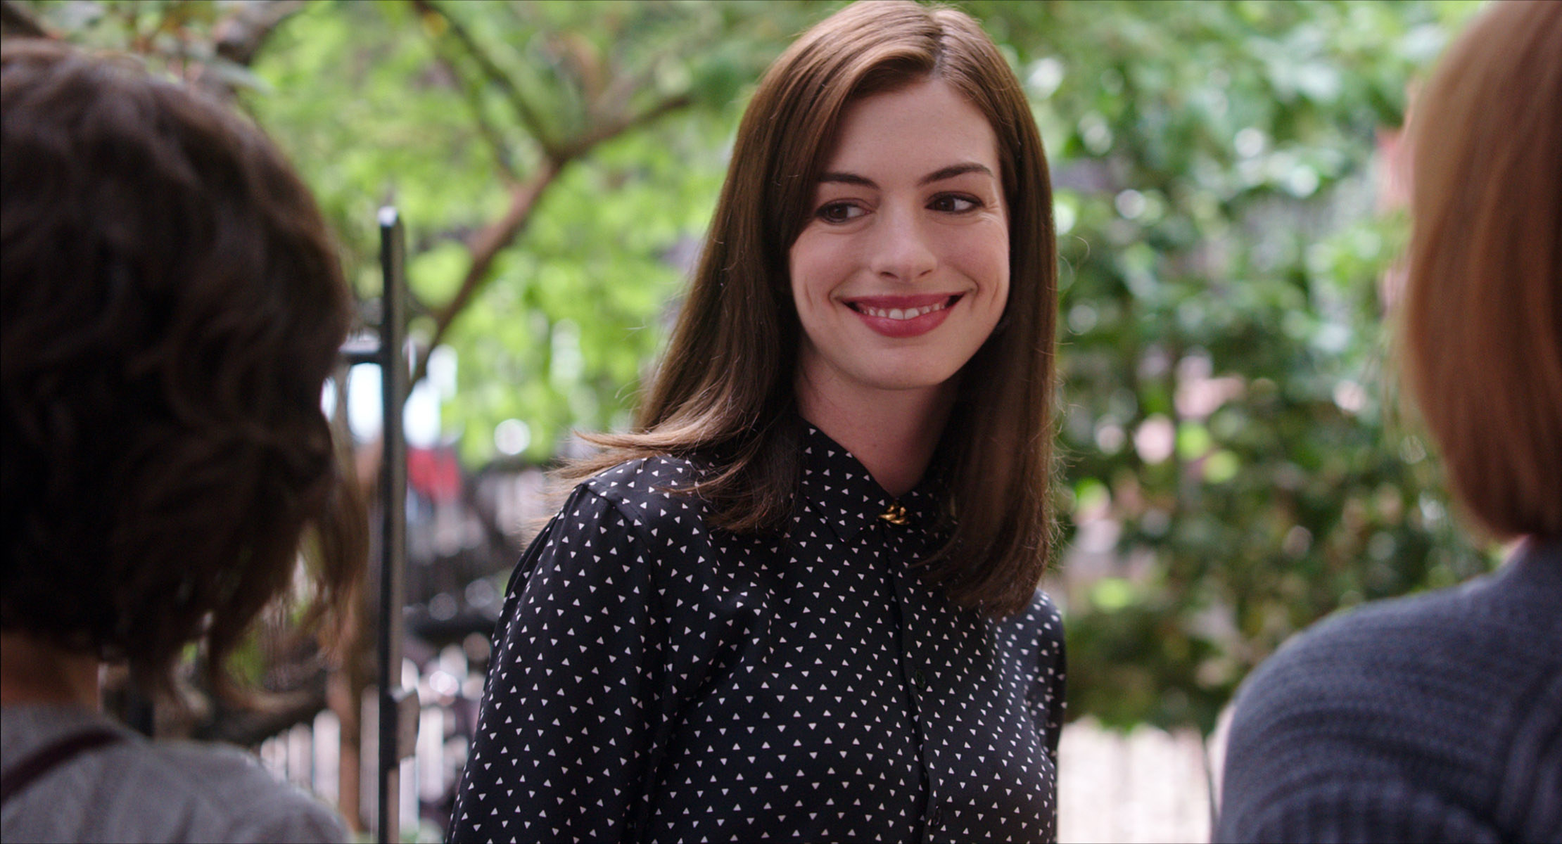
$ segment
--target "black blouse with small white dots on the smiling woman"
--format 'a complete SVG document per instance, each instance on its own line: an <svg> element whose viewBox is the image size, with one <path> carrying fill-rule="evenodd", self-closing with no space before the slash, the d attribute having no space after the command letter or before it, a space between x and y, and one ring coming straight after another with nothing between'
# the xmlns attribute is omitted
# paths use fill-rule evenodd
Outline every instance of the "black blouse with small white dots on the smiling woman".
<svg viewBox="0 0 1562 844"><path fill-rule="evenodd" d="M779 537L706 527L679 459L575 490L511 580L453 841L1056 838L1057 610L954 607L911 566L929 490L803 451Z"/></svg>

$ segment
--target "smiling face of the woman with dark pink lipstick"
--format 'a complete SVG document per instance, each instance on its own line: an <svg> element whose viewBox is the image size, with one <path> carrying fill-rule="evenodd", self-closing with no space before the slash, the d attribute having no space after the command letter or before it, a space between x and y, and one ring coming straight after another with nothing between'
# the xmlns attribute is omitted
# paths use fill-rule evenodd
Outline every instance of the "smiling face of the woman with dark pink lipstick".
<svg viewBox="0 0 1562 844"><path fill-rule="evenodd" d="M940 80L847 108L789 254L804 406L953 390L1009 296L1000 176L992 126Z"/></svg>

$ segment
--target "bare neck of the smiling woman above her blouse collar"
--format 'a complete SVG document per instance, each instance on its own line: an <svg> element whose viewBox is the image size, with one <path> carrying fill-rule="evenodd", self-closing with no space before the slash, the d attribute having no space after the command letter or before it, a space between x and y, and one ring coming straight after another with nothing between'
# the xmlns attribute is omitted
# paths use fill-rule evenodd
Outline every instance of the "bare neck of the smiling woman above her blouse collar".
<svg viewBox="0 0 1562 844"><path fill-rule="evenodd" d="M926 474L954 404L953 382L884 390L864 401L833 396L800 373L795 390L803 418L850 451L892 496L906 495Z"/></svg>

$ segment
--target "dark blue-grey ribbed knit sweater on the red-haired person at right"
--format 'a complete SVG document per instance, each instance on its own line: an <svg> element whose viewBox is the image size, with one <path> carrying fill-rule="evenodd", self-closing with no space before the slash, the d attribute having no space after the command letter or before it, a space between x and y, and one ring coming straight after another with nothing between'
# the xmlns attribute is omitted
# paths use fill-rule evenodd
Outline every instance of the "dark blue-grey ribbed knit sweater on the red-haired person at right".
<svg viewBox="0 0 1562 844"><path fill-rule="evenodd" d="M1562 540L1370 604L1246 680L1217 841L1562 841Z"/></svg>

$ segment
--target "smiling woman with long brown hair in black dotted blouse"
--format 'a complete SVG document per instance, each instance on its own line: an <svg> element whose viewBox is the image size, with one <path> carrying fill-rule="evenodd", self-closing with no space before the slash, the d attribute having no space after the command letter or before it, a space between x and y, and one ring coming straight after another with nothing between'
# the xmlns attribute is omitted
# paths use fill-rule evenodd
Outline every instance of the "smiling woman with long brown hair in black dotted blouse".
<svg viewBox="0 0 1562 844"><path fill-rule="evenodd" d="M633 434L523 555L451 839L1056 836L1051 192L962 12L765 73Z"/></svg>

